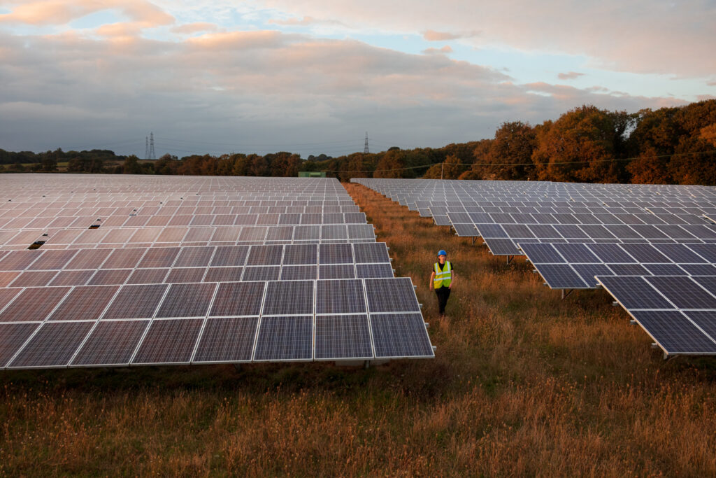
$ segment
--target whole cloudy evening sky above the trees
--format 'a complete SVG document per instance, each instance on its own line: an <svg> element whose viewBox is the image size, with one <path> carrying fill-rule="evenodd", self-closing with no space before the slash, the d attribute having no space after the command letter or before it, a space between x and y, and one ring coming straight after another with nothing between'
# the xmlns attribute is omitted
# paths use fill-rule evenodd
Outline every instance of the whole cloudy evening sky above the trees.
<svg viewBox="0 0 716 478"><path fill-rule="evenodd" d="M0 0L0 148L303 158L716 98L716 0Z"/></svg>

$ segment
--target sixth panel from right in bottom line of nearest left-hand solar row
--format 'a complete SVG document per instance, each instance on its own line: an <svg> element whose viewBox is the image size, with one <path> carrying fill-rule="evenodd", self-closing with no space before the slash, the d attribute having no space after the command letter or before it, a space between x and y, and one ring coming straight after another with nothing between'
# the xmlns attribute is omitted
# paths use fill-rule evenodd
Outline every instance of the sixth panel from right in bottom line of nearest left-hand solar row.
<svg viewBox="0 0 716 478"><path fill-rule="evenodd" d="M149 320L102 320L79 349L72 365L127 365Z"/></svg>

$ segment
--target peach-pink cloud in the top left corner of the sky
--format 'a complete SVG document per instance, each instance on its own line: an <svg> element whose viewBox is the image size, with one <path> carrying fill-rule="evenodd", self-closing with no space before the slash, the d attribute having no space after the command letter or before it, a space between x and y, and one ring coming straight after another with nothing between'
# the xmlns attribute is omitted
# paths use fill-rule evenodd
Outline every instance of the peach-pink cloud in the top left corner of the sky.
<svg viewBox="0 0 716 478"><path fill-rule="evenodd" d="M0 23L62 25L103 10L116 10L144 27L172 24L174 17L145 0L41 0L27 1L9 14L0 15Z"/></svg>

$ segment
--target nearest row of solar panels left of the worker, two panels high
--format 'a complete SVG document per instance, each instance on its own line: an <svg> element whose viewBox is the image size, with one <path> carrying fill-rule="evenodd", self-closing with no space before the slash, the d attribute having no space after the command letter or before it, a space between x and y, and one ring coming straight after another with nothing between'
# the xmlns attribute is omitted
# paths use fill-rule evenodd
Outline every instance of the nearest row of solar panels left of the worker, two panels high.
<svg viewBox="0 0 716 478"><path fill-rule="evenodd" d="M3 368L434 356L408 278L9 291Z"/></svg>

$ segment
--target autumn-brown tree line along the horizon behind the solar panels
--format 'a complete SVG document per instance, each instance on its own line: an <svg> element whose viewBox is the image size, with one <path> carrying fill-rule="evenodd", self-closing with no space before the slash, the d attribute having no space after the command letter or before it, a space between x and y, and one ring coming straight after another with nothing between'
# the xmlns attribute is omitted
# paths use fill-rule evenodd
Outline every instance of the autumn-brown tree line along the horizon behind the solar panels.
<svg viewBox="0 0 716 478"><path fill-rule="evenodd" d="M11 153L0 150L6 171L290 176L326 171L354 177L508 179L586 183L716 185L716 100L658 110L601 110L583 105L538 125L503 123L494 138L442 148L389 148L331 158L282 151L266 155L165 155L156 161L115 156L110 150ZM4 166L3 166L4 165ZM17 166L21 166L18 168Z"/></svg>

